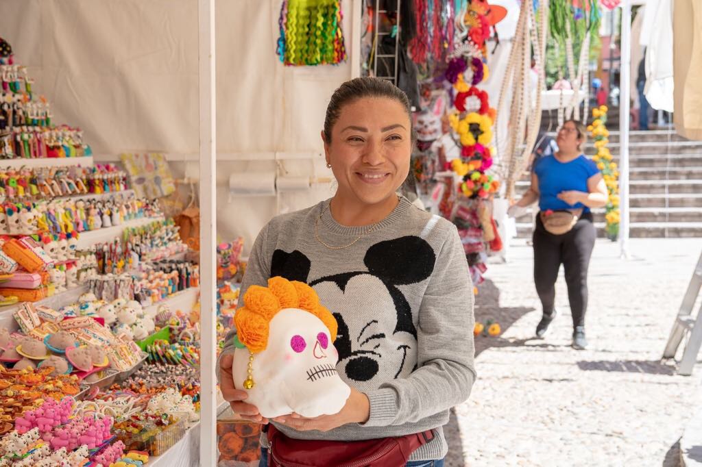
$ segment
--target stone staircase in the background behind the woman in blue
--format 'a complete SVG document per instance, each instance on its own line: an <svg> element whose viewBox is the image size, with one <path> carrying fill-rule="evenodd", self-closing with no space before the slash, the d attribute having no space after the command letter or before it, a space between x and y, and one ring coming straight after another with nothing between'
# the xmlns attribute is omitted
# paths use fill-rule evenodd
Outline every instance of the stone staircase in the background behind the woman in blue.
<svg viewBox="0 0 702 467"><path fill-rule="evenodd" d="M608 147L619 163L618 132L610 133ZM592 142L585 153L595 154ZM629 165L631 237L702 237L701 141L685 140L673 130L632 131ZM525 173L517 182L517 196L529 183ZM534 212L517 219L517 237L531 236ZM604 209L592 213L604 236Z"/></svg>

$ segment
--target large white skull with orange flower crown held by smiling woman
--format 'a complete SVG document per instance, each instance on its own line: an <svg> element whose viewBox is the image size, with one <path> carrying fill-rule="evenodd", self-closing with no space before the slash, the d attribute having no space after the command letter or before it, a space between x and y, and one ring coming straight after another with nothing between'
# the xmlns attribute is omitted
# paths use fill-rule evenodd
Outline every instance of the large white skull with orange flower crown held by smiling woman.
<svg viewBox="0 0 702 467"><path fill-rule="evenodd" d="M234 321L234 386L249 393L246 402L263 417L318 417L343 408L351 389L336 371L336 319L312 287L281 277L268 287L252 285Z"/></svg>

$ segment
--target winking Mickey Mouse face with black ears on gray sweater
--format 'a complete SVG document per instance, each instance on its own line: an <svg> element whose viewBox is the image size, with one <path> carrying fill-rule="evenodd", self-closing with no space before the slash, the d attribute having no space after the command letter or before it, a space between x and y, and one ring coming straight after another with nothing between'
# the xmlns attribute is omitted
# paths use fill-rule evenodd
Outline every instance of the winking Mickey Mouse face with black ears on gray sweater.
<svg viewBox="0 0 702 467"><path fill-rule="evenodd" d="M270 271L314 287L338 323L340 375L355 386L377 388L416 369L416 320L402 287L427 280L435 261L427 241L403 236L371 245L363 257L366 270L314 278L303 252L277 249Z"/></svg>

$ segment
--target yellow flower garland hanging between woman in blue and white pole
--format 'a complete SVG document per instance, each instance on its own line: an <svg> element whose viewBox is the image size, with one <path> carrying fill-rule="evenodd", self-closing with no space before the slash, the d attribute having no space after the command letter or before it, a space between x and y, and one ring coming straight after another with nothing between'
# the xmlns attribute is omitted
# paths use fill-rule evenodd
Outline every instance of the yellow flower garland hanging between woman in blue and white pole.
<svg viewBox="0 0 702 467"><path fill-rule="evenodd" d="M592 157L592 161L597 163L597 168L602 172L604 183L607 185L607 205L605 206L604 219L607 221L605 231L607 237L615 241L619 234L619 168L612 161L612 155L607 148L609 140L609 130L604 126L607 123L607 106L601 105L592 109L592 116L595 118L588 126L588 131L595 140L597 154Z"/></svg>

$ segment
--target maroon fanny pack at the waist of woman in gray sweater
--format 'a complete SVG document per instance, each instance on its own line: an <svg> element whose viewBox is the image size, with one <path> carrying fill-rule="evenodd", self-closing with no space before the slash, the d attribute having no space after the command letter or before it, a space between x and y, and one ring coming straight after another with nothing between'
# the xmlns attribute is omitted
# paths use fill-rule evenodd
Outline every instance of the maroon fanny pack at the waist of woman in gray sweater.
<svg viewBox="0 0 702 467"><path fill-rule="evenodd" d="M272 467L400 467L434 431L362 441L296 440L267 426L268 465Z"/></svg>

